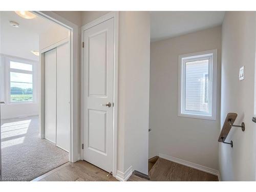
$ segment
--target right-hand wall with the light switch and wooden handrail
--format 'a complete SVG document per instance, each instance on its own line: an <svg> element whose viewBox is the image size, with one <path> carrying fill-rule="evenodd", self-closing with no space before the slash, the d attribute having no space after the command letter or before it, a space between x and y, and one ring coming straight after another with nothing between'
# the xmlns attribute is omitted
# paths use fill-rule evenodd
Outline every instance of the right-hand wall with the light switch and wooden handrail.
<svg viewBox="0 0 256 192"><path fill-rule="evenodd" d="M245 132L233 127L219 144L222 181L255 180L255 129L251 121L254 106L255 12L226 12L222 25L221 126L226 114L238 114L235 124L245 123ZM239 68L245 79L239 81Z"/></svg>

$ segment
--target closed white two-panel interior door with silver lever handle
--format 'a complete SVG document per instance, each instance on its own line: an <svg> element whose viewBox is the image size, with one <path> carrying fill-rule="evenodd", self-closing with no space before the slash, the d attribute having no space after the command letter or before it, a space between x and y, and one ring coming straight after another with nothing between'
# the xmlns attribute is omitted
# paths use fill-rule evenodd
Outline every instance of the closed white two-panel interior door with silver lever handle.
<svg viewBox="0 0 256 192"><path fill-rule="evenodd" d="M111 172L114 18L84 30L83 40L83 159Z"/></svg>

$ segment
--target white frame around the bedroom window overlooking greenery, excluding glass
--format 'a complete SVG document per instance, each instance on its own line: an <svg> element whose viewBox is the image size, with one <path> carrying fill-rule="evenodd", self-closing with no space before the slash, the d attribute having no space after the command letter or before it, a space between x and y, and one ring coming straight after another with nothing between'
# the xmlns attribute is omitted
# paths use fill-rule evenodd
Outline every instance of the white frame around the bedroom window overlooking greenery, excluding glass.
<svg viewBox="0 0 256 192"><path fill-rule="evenodd" d="M21 62L21 63L26 63L32 65L32 71L27 71L27 70L20 70L20 69L11 69L10 68L10 62ZM5 68L6 68L6 76L5 76L5 90L6 90L6 95L5 98L7 100L7 104L11 105L16 105L16 104L35 104L37 103L37 94L36 94L36 89L37 89L37 80L36 80L36 61L24 59L24 58L18 58L18 57L10 57L7 56L5 57ZM11 102L11 94L10 94L10 72L16 72L16 73L27 73L27 74L32 74L32 82L33 82L33 101L17 101L17 102Z"/></svg>

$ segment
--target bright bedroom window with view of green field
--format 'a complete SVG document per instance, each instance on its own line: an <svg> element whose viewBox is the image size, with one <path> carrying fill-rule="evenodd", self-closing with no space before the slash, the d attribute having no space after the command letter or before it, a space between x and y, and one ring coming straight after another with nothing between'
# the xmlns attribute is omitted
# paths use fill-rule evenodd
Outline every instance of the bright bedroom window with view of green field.
<svg viewBox="0 0 256 192"><path fill-rule="evenodd" d="M35 102L34 63L7 58L9 103Z"/></svg>

